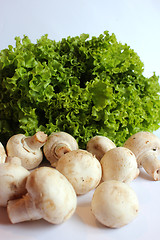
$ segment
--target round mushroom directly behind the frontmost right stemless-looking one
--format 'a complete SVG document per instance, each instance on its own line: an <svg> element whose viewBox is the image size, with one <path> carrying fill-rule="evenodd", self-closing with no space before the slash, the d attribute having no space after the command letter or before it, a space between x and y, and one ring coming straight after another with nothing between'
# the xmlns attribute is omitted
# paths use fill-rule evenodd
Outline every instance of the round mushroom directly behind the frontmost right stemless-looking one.
<svg viewBox="0 0 160 240"><path fill-rule="evenodd" d="M118 180L129 183L139 175L136 157L128 148L117 147L109 150L100 163L103 181Z"/></svg>

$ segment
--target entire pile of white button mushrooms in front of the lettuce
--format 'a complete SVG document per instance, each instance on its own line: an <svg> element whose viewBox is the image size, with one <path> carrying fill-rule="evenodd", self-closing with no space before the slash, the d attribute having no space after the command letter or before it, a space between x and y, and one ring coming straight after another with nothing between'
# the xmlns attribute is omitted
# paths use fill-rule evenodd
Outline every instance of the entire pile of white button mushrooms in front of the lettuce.
<svg viewBox="0 0 160 240"><path fill-rule="evenodd" d="M120 228L139 212L129 184L140 168L160 180L160 139L149 132L132 135L122 147L104 136L94 136L79 149L66 132L49 136L12 136L0 143L0 206L11 223L45 219L60 224L76 211L77 197L93 190L93 216L109 228ZM42 166L46 159L49 166ZM66 201L67 199L67 201Z"/></svg>

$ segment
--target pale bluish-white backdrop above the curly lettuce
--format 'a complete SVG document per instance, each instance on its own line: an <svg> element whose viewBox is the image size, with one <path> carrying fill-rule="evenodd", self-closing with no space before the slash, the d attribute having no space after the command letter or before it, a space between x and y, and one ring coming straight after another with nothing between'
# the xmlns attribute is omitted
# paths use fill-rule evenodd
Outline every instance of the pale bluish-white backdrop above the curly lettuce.
<svg viewBox="0 0 160 240"><path fill-rule="evenodd" d="M58 41L105 30L138 53L146 76L160 75L159 0L0 0L0 49L24 34Z"/></svg>

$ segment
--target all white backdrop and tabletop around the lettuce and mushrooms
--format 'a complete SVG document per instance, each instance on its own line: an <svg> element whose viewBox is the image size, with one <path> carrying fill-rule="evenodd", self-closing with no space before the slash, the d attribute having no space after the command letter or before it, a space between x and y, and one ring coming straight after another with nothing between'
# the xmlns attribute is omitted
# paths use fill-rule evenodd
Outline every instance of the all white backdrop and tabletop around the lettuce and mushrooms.
<svg viewBox="0 0 160 240"><path fill-rule="evenodd" d="M133 48L144 63L146 76L160 75L160 1L159 0L0 0L0 49L14 45L14 37L23 34L35 42L44 34L62 37L89 33L98 36L105 30L118 41ZM156 132L160 136L160 131ZM90 211L93 191L78 197L74 216L62 225L43 220L10 224L6 209L0 208L2 240L150 240L159 237L160 182L144 172L132 182L140 212L121 229L99 224Z"/></svg>

